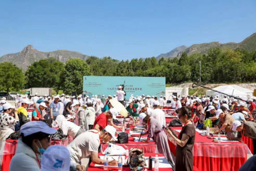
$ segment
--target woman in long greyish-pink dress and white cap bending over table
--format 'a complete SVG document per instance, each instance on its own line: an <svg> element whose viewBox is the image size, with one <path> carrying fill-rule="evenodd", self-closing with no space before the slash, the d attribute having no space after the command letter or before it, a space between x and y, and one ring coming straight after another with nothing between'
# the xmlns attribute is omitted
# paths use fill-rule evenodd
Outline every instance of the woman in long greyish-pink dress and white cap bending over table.
<svg viewBox="0 0 256 171"><path fill-rule="evenodd" d="M146 115L143 119L143 125L145 125L145 127L148 125L148 132L146 133L148 134L148 138L146 141L142 141L142 142L148 142L150 138L153 138L153 140L157 144L158 152L164 154L164 156L167 158L170 164L174 166L172 154L168 144L167 135L163 130L162 123L160 123L155 118L150 117L149 115Z"/></svg>

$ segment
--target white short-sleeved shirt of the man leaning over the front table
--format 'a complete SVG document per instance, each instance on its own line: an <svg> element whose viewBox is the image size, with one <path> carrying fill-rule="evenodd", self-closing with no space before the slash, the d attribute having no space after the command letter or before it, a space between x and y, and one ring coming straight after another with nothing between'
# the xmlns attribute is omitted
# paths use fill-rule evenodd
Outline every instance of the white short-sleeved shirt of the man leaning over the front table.
<svg viewBox="0 0 256 171"><path fill-rule="evenodd" d="M100 146L100 132L95 129L87 130L76 137L68 146L71 162L79 163L81 159L89 157L92 152L98 152Z"/></svg>

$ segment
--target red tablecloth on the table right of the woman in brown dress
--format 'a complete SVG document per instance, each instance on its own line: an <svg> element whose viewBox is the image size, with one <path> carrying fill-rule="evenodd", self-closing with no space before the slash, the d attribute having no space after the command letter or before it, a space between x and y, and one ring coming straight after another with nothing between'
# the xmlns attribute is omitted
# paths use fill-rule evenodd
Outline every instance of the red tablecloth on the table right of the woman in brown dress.
<svg viewBox="0 0 256 171"><path fill-rule="evenodd" d="M181 127L173 127L181 129ZM169 141L170 150L176 155L176 146ZM247 160L250 150L247 144L242 142L213 142L206 136L201 136L196 131L196 139L193 149L194 170L238 170Z"/></svg>

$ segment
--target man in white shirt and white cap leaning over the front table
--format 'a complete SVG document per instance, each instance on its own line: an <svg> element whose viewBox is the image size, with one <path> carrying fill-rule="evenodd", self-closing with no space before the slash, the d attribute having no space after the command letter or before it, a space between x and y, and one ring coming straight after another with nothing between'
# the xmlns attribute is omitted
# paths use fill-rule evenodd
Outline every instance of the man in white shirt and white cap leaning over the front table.
<svg viewBox="0 0 256 171"><path fill-rule="evenodd" d="M103 165L104 161L98 157L100 140L103 140L105 143L111 138L117 140L114 136L115 134L116 128L110 125L100 131L91 129L80 134L67 146L70 152L71 162L75 163L76 166L79 165L81 159L90 157L93 163ZM117 165L117 161L113 160L108 164Z"/></svg>

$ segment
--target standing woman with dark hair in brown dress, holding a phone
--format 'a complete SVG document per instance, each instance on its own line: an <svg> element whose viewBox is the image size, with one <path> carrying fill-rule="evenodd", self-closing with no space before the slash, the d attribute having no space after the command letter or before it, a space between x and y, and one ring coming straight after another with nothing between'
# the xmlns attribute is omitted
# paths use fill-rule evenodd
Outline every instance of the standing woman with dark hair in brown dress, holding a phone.
<svg viewBox="0 0 256 171"><path fill-rule="evenodd" d="M172 137L177 144L175 170L192 171L193 170L193 146L195 143L196 130L191 122L191 110L182 107L179 112L179 119L183 124L181 133L176 138L171 130L167 130L168 136Z"/></svg>

